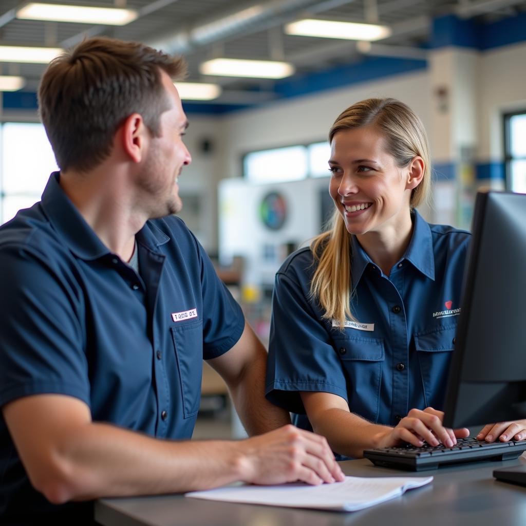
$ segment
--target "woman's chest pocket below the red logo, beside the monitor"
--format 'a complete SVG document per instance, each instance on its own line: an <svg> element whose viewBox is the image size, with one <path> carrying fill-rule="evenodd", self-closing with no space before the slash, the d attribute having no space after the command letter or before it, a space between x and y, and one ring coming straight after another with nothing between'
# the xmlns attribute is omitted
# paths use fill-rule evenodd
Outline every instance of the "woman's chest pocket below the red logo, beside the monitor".
<svg viewBox="0 0 526 526"><path fill-rule="evenodd" d="M442 409L456 325L414 335L426 407Z"/></svg>

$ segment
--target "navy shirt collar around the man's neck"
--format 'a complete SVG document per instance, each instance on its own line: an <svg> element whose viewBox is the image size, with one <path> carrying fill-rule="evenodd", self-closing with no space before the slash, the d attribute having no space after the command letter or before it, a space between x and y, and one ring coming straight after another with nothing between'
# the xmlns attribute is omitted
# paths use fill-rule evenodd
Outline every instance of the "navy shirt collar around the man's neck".
<svg viewBox="0 0 526 526"><path fill-rule="evenodd" d="M69 250L81 259L93 260L110 254L108 247L95 234L64 190L60 188L59 180L60 172L53 172L42 194L42 207L53 228L66 242ZM137 232L137 239L155 250L170 238L151 221L147 221L144 227Z"/></svg>

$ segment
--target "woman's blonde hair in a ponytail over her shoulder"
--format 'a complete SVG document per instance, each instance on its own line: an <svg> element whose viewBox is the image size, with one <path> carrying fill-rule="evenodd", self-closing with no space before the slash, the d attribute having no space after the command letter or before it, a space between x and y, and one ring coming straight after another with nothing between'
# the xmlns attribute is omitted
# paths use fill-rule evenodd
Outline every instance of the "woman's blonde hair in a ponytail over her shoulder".
<svg viewBox="0 0 526 526"><path fill-rule="evenodd" d="M409 165L415 156L424 161L421 183L412 190L410 207L415 208L429 198L431 164L426 130L419 117L407 106L393 98L362 100L343 111L329 130L329 143L338 131L377 126L386 139L387 151L399 168ZM350 310L351 235L341 214L335 209L330 229L311 243L317 264L310 284L310 294L319 302L323 319L335 320L340 327L346 319L355 320Z"/></svg>

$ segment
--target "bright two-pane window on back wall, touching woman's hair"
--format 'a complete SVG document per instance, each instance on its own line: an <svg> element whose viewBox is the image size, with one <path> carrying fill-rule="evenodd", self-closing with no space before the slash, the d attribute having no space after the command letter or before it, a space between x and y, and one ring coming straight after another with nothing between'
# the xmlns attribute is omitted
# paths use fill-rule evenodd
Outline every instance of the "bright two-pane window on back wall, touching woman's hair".
<svg viewBox="0 0 526 526"><path fill-rule="evenodd" d="M327 142L251 151L243 159L243 173L251 183L284 183L329 174Z"/></svg>

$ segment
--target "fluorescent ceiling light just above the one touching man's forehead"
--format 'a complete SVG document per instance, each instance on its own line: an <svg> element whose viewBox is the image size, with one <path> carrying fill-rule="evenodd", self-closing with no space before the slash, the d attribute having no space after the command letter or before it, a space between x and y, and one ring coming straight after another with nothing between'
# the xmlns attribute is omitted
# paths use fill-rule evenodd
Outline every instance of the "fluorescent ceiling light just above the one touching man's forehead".
<svg viewBox="0 0 526 526"><path fill-rule="evenodd" d="M294 66L272 60L214 58L199 66L203 75L225 77L284 78L294 73Z"/></svg>

